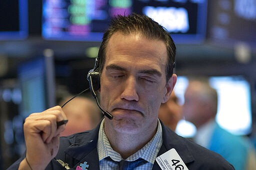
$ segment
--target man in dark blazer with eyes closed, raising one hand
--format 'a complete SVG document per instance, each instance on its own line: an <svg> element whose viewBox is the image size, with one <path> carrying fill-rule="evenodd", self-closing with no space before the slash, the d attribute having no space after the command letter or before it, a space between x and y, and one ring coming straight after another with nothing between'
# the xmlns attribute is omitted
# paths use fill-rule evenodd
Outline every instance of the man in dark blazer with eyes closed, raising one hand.
<svg viewBox="0 0 256 170"><path fill-rule="evenodd" d="M56 122L66 118L61 108L34 113L24 123L26 154L10 169L63 170L56 161L61 160L76 170L160 170L156 157L172 149L175 157L161 167L232 170L222 157L158 120L177 79L174 60L175 45L157 22L138 14L117 16L103 35L94 69L100 73L101 107L112 120L105 117L92 131L60 138L59 145L64 126Z"/></svg>

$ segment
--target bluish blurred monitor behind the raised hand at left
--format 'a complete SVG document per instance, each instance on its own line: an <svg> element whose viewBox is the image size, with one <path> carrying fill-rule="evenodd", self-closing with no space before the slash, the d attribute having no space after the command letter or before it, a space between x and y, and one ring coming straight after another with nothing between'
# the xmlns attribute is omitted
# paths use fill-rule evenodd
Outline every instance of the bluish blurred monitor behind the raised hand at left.
<svg viewBox="0 0 256 170"><path fill-rule="evenodd" d="M17 68L21 91L20 115L42 112L55 105L54 65L52 57L36 57Z"/></svg>

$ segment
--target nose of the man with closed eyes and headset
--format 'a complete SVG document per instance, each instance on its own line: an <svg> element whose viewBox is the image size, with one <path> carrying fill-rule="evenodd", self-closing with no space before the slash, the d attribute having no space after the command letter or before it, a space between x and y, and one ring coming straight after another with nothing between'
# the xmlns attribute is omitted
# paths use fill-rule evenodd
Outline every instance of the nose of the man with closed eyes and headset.
<svg viewBox="0 0 256 170"><path fill-rule="evenodd" d="M138 101L137 82L132 76L128 77L124 83L121 99Z"/></svg>

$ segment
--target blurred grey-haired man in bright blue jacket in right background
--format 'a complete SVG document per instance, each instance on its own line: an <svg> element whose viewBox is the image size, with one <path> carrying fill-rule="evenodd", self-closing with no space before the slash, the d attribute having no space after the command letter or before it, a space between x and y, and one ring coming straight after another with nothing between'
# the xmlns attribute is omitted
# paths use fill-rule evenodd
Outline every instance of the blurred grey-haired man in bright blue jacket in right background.
<svg viewBox="0 0 256 170"><path fill-rule="evenodd" d="M215 122L217 92L207 79L189 80L182 110L184 118L197 128L194 142L220 154L235 170L256 170L255 150L249 140L228 133Z"/></svg>

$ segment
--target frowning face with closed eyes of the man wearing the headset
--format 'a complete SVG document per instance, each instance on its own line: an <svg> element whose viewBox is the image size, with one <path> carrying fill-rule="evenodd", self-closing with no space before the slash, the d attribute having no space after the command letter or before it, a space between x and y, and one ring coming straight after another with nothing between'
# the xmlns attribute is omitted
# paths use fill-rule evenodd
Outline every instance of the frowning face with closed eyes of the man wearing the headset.
<svg viewBox="0 0 256 170"><path fill-rule="evenodd" d="M100 79L105 131L146 133L156 129L158 109L176 82L166 85L166 47L163 41L138 34L114 33L109 39ZM174 79L174 80L173 80Z"/></svg>

